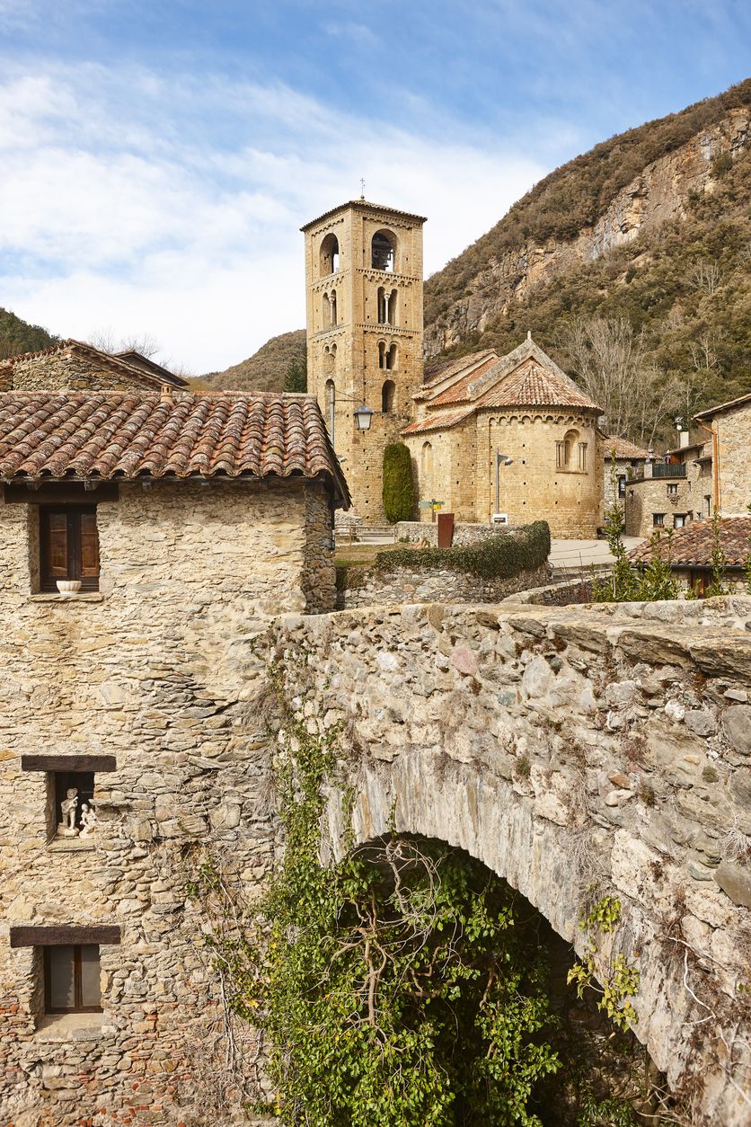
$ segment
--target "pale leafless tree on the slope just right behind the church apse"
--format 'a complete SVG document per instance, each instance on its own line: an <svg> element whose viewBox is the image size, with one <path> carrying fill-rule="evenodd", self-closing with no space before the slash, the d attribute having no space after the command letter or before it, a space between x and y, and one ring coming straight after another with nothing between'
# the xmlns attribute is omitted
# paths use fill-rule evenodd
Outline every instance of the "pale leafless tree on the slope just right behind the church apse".
<svg viewBox="0 0 751 1127"><path fill-rule="evenodd" d="M652 445L664 416L681 402L681 383L650 360L643 334L626 318L578 318L558 344L593 402L608 434Z"/></svg>

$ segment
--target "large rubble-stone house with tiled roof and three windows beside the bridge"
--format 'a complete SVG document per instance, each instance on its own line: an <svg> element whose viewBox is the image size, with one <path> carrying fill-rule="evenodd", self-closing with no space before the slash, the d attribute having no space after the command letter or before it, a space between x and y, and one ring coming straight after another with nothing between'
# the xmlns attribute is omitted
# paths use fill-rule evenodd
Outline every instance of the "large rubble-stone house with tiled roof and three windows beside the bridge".
<svg viewBox="0 0 751 1127"><path fill-rule="evenodd" d="M0 1120L178 1122L220 1020L180 889L270 861L253 639L333 606L347 486L312 397L141 390L0 394Z"/></svg>

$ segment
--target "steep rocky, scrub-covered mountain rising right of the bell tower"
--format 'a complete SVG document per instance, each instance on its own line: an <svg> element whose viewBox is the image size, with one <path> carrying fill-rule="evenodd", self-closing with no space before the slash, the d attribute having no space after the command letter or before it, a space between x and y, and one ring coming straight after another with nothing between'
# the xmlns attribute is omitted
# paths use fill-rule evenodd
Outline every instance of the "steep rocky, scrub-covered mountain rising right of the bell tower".
<svg viewBox="0 0 751 1127"><path fill-rule="evenodd" d="M426 283L426 356L625 320L688 410L751 390L751 80L597 145ZM690 400L690 402L688 401Z"/></svg>

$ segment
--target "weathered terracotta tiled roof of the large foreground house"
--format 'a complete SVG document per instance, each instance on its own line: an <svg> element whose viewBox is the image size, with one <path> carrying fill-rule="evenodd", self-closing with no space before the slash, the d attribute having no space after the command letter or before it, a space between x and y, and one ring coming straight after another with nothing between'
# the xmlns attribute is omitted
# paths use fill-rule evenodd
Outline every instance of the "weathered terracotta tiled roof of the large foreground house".
<svg viewBox="0 0 751 1127"><path fill-rule="evenodd" d="M328 476L349 491L313 396L0 393L0 479Z"/></svg>

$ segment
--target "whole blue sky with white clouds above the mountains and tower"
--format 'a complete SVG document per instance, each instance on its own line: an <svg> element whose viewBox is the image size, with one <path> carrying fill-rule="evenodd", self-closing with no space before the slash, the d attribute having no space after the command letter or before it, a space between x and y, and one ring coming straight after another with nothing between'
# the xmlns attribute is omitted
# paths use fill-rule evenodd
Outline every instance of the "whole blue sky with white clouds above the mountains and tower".
<svg viewBox="0 0 751 1127"><path fill-rule="evenodd" d="M430 274L750 73L748 0L0 0L0 307L222 370L304 325L298 229L360 178Z"/></svg>

